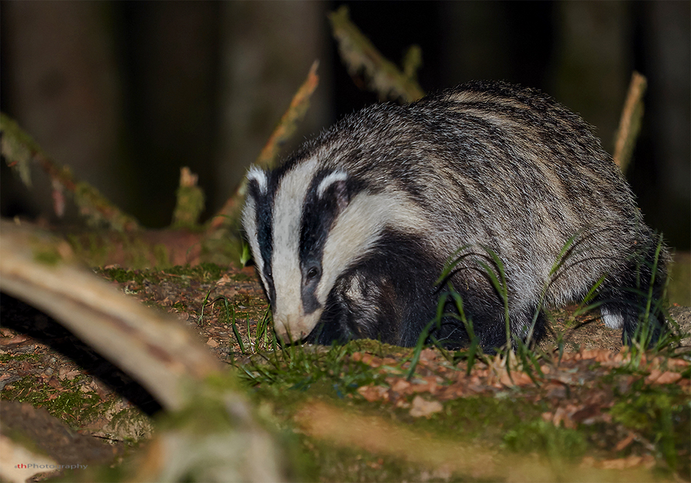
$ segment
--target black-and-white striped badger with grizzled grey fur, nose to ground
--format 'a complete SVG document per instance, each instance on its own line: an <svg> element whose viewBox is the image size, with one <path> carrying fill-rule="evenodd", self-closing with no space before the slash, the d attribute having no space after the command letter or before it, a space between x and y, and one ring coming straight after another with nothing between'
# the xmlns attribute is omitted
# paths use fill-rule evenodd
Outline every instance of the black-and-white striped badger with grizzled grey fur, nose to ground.
<svg viewBox="0 0 691 483"><path fill-rule="evenodd" d="M251 167L246 193L243 229L282 341L412 346L448 287L486 351L507 343L507 325L539 339L545 307L584 296L624 343L643 319L653 339L665 322L668 252L591 127L531 88L470 82L363 108L280 167ZM434 337L468 343L460 319L446 312Z"/></svg>

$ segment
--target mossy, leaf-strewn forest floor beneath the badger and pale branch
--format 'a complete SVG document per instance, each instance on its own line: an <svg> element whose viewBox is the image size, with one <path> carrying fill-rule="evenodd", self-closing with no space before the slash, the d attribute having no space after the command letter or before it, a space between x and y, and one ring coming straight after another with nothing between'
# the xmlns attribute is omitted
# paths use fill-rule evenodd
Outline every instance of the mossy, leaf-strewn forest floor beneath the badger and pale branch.
<svg viewBox="0 0 691 483"><path fill-rule="evenodd" d="M551 331L522 370L375 341L274 352L261 323L257 330L266 303L252 269L97 273L177 314L238 368L290 448L294 480L691 480L688 337L674 351L625 353L619 330L567 307L550 314ZM691 332L691 307L672 306L670 316ZM2 294L1 320L3 433L59 464L129 461L160 406L42 312ZM79 472L33 480L83 480Z"/></svg>

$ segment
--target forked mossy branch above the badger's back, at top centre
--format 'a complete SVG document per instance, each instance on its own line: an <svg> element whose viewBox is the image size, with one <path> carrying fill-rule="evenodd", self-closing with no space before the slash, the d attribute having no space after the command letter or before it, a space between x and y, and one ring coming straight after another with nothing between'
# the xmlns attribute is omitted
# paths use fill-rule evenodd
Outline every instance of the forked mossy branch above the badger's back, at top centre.
<svg viewBox="0 0 691 483"><path fill-rule="evenodd" d="M339 43L341 59L351 76L364 73L369 87L381 100L402 100L410 103L425 95L415 79L415 71L422 64L422 53L417 46L408 50L404 59L404 72L386 59L363 33L350 21L348 7L341 6L329 14L334 39Z"/></svg>

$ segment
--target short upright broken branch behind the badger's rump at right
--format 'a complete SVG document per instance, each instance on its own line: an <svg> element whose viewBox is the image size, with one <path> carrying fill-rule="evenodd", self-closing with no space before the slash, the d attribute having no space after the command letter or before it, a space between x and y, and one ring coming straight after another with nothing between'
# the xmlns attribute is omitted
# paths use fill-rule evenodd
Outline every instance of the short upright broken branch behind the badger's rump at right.
<svg viewBox="0 0 691 483"><path fill-rule="evenodd" d="M646 88L647 79L634 70L614 142L614 162L622 173L626 173L634 153L638 134L641 133L643 95L645 95Z"/></svg>

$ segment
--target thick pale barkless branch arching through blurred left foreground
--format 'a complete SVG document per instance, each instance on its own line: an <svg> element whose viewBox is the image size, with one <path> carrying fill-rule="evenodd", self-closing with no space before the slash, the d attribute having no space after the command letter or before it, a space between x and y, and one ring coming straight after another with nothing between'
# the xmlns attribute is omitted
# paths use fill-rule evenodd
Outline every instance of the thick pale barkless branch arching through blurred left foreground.
<svg viewBox="0 0 691 483"><path fill-rule="evenodd" d="M173 317L138 303L71 263L69 245L37 229L0 222L0 290L54 316L168 409L187 402L186 379L220 363Z"/></svg>

